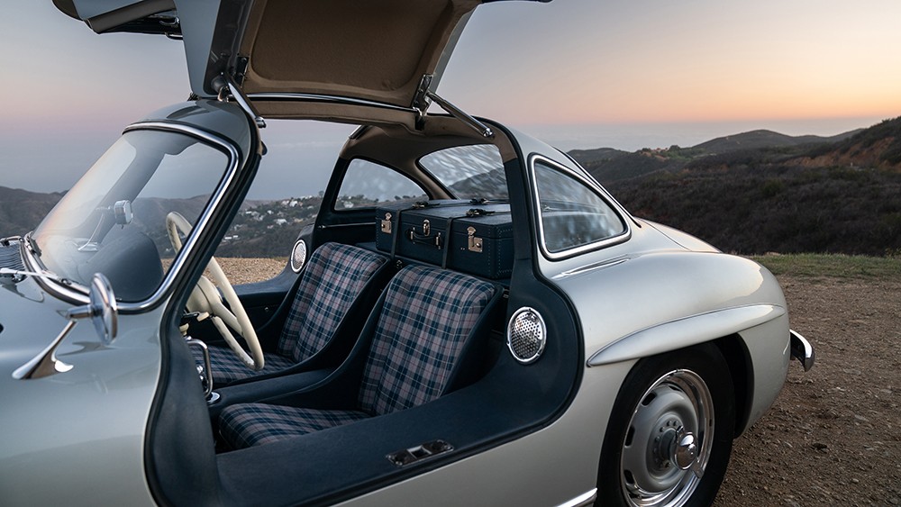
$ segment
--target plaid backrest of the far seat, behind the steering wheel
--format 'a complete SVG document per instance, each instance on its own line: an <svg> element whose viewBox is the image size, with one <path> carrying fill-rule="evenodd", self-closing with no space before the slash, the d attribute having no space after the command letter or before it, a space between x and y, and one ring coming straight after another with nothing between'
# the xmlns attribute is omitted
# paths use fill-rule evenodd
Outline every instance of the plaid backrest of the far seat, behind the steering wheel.
<svg viewBox="0 0 901 507"><path fill-rule="evenodd" d="M341 243L324 243L316 249L297 286L278 340L278 355L299 363L322 350L386 262L375 252Z"/></svg>

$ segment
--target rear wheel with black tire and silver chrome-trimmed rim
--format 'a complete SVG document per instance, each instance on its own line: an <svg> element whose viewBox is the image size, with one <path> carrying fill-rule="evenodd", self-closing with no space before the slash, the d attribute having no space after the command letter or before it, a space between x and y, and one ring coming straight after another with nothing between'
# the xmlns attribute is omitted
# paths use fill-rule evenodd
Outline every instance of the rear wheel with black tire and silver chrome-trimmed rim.
<svg viewBox="0 0 901 507"><path fill-rule="evenodd" d="M639 361L616 396L598 472L603 504L709 505L735 430L732 376L705 344Z"/></svg>

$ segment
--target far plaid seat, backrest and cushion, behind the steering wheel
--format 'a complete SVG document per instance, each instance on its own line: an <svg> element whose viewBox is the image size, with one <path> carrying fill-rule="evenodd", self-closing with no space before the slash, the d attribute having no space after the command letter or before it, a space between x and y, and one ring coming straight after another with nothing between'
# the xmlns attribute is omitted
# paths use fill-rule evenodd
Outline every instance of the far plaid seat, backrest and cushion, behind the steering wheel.
<svg viewBox="0 0 901 507"><path fill-rule="evenodd" d="M215 385L275 373L312 358L332 340L350 306L386 261L377 253L340 243L316 249L297 286L278 348L263 355L265 367L255 372L231 349L211 346ZM203 361L198 349L191 350L198 363Z"/></svg>

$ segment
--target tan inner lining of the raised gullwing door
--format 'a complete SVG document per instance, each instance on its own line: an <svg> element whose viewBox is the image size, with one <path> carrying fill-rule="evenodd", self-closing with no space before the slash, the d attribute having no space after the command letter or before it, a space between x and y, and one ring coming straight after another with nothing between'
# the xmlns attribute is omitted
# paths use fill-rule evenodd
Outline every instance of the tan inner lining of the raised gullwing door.
<svg viewBox="0 0 901 507"><path fill-rule="evenodd" d="M478 0L258 0L241 55L243 89L409 106L423 74Z"/></svg>

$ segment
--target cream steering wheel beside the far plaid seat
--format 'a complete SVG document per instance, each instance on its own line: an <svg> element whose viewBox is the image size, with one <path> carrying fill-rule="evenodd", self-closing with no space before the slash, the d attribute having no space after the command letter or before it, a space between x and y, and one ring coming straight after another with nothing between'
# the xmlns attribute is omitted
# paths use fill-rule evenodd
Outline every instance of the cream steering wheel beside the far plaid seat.
<svg viewBox="0 0 901 507"><path fill-rule="evenodd" d="M181 237L178 233L181 232L187 236L191 230L191 224L181 214L170 212L166 215L166 231L169 242L172 243L172 248L176 252L181 249ZM213 282L202 275L197 280L197 285L191 291L191 295L187 298L187 311L209 313L214 327L219 331L219 334L222 335L229 347L232 348L232 351L241 359L241 362L254 371L263 369L263 349L259 347L257 331L253 330L253 326L250 325L250 318L247 316L247 312L244 311L244 306L241 304L238 294L235 294L232 284L228 281L223 268L219 266L215 258L210 258L206 268L209 270L210 275L213 276L216 285L219 285L219 290L222 291L222 296L228 302L228 307L223 304L223 297L219 294L219 290L216 290ZM229 307L231 307L231 311ZM232 330L237 331L243 337L247 347L250 349L250 354L234 338Z"/></svg>

